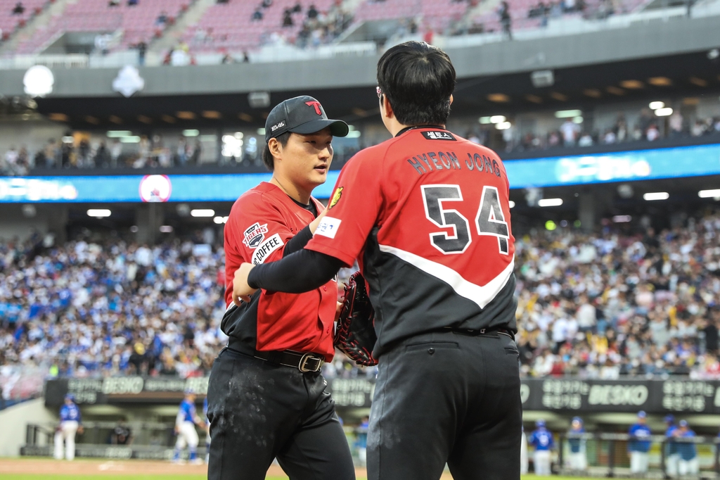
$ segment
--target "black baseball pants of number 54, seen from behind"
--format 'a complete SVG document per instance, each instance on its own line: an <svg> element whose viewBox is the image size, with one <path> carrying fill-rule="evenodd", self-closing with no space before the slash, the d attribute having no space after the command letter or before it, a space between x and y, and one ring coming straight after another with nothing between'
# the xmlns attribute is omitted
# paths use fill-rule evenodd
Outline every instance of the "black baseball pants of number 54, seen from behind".
<svg viewBox="0 0 720 480"><path fill-rule="evenodd" d="M520 479L518 350L508 335L428 333L379 359L368 480Z"/></svg>

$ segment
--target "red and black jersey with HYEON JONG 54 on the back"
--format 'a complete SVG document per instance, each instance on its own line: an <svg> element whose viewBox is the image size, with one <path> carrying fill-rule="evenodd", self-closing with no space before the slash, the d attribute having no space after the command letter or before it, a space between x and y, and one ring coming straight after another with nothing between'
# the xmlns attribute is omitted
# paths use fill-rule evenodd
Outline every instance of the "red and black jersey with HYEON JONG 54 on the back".
<svg viewBox="0 0 720 480"><path fill-rule="evenodd" d="M409 128L343 167L305 248L370 286L382 355L446 326L516 329L515 240L498 154L441 128Z"/></svg>

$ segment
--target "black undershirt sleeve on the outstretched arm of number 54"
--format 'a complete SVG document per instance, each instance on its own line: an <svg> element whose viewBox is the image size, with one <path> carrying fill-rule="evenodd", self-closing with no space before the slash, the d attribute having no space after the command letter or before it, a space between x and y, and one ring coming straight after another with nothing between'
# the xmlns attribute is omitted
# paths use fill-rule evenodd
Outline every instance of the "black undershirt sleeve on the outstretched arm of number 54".
<svg viewBox="0 0 720 480"><path fill-rule="evenodd" d="M341 259L301 249L277 262L257 265L248 275L248 285L271 292L304 293L328 283L341 267Z"/></svg>

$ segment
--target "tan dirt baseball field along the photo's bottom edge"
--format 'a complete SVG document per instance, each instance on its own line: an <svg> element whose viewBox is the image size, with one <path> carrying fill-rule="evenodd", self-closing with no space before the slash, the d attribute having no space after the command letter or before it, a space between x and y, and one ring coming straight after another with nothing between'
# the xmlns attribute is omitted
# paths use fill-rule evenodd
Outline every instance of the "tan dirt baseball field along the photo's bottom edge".
<svg viewBox="0 0 720 480"><path fill-rule="evenodd" d="M48 458L0 459L0 479L3 480L204 480L204 465L177 465L162 461L107 461L77 459L72 462ZM356 471L358 480L366 478L364 469ZM523 476L533 480L535 476ZM553 480L580 480L554 476ZM444 474L442 480L451 480ZM287 480L279 466L271 466L266 480Z"/></svg>

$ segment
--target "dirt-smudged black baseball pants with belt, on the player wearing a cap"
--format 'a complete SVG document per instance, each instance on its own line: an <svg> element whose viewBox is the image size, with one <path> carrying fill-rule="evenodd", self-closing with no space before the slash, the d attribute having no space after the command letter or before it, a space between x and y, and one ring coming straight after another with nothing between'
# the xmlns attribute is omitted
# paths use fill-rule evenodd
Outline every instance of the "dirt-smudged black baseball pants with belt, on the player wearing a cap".
<svg viewBox="0 0 720 480"><path fill-rule="evenodd" d="M207 388L208 480L264 480L274 458L291 480L354 480L326 386L320 373L222 350Z"/></svg>

